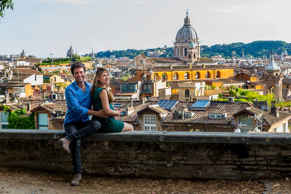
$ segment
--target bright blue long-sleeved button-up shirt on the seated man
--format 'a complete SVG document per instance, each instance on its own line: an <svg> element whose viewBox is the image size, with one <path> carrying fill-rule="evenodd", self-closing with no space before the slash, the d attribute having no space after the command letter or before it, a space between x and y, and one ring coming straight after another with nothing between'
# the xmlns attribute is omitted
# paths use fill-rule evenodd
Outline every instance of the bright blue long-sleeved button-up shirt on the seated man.
<svg viewBox="0 0 291 194"><path fill-rule="evenodd" d="M88 110L91 110L92 107L92 97L90 94L91 83L87 83L86 81L86 90L83 92L79 86L77 86L76 81L71 83L65 89L65 97L67 101L67 114L64 121L64 124L83 121L86 122L89 119L89 115L86 115Z"/></svg>

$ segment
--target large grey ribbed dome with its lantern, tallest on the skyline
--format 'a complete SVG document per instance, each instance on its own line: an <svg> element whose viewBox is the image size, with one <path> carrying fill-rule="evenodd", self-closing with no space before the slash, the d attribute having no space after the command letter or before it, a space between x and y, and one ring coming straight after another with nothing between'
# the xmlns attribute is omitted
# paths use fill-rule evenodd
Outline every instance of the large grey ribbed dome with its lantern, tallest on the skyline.
<svg viewBox="0 0 291 194"><path fill-rule="evenodd" d="M190 24L190 18L187 15L184 19L184 25L178 31L176 35L176 43L177 42L198 42L198 36L194 28L192 28Z"/></svg>

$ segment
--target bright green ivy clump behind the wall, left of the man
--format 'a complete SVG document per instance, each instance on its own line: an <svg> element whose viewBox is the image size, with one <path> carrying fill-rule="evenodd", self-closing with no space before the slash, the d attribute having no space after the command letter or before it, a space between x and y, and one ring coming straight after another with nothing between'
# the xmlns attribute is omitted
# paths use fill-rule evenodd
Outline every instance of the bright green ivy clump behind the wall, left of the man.
<svg viewBox="0 0 291 194"><path fill-rule="evenodd" d="M22 116L25 114L27 112L24 108L11 111L7 117L9 123L7 129L34 129L34 113Z"/></svg>

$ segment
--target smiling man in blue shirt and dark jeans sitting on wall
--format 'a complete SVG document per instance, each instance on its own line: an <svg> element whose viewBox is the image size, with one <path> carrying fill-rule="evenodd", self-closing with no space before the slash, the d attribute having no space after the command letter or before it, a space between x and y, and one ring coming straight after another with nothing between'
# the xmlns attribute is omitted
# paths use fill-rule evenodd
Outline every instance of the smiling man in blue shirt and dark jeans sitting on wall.
<svg viewBox="0 0 291 194"><path fill-rule="evenodd" d="M91 135L100 129L101 125L98 121L91 121L89 115L95 115L100 118L107 118L108 115L103 110L91 111L92 97L90 95L91 83L84 81L86 69L81 62L76 62L71 66L71 73L75 81L65 89L65 97L67 101L68 111L65 117L64 126L66 137L58 142L62 144L63 149L68 154L72 150L72 163L74 168L74 178L71 186L79 185L81 181L81 138Z"/></svg>

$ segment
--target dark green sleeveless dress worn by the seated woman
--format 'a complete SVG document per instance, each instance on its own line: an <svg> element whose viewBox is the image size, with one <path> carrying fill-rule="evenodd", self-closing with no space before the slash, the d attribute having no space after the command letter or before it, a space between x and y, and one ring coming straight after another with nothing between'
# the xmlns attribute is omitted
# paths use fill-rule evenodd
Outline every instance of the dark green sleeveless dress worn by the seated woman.
<svg viewBox="0 0 291 194"><path fill-rule="evenodd" d="M105 90L105 88L95 88L94 96L92 99L94 111L103 109L102 102L99 97L100 92L103 89ZM109 104L109 107L111 110L114 110L111 104ZM113 116L109 116L108 118L93 116L92 120L99 121L101 124L101 128L97 130L97 133L119 133L124 127L124 123L114 119Z"/></svg>

